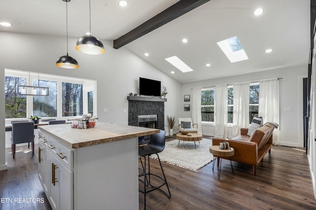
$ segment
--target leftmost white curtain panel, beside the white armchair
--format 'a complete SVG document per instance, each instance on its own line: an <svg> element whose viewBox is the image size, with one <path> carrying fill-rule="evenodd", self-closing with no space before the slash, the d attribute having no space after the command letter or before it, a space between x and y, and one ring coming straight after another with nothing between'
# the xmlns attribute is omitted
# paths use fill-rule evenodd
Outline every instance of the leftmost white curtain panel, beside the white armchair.
<svg viewBox="0 0 316 210"><path fill-rule="evenodd" d="M197 133L202 134L201 88L193 88L192 123L197 123Z"/></svg>

